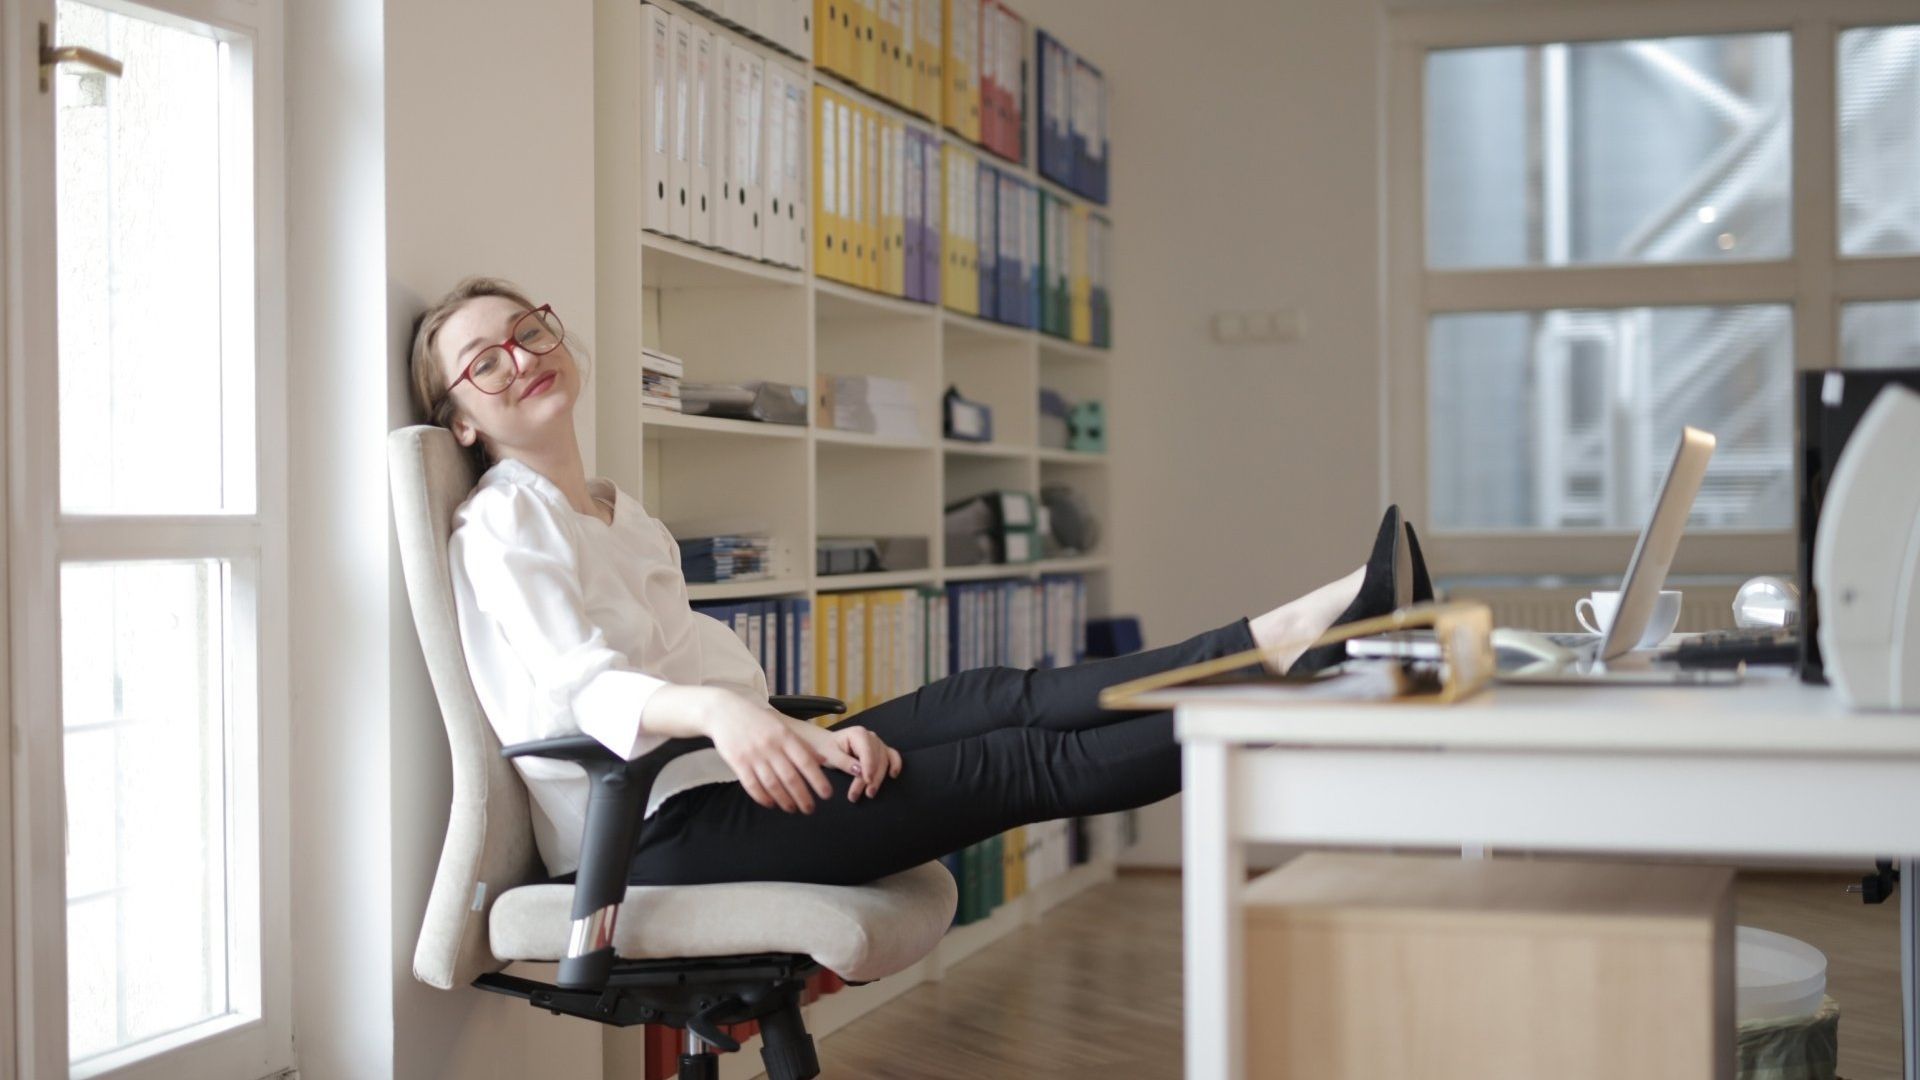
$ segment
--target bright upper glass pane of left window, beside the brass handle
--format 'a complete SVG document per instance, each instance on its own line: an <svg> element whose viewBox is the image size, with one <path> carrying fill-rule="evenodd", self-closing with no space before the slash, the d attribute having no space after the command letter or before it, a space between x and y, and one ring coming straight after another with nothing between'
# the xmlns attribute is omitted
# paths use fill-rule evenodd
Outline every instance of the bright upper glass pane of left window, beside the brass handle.
<svg viewBox="0 0 1920 1080"><path fill-rule="evenodd" d="M228 457L252 459L253 402L223 350L225 46L73 0L58 23L63 44L125 63L54 81L60 505L252 511L228 482Z"/></svg>

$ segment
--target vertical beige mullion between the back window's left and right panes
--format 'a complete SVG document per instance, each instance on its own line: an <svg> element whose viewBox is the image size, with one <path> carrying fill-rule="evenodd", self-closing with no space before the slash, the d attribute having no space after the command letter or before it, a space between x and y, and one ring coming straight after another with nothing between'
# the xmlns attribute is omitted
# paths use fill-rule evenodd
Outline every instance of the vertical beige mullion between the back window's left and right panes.
<svg viewBox="0 0 1920 1080"><path fill-rule="evenodd" d="M1839 258L1839 100L1834 23L1793 23L1793 365L1834 367L1839 356L1834 263Z"/></svg>

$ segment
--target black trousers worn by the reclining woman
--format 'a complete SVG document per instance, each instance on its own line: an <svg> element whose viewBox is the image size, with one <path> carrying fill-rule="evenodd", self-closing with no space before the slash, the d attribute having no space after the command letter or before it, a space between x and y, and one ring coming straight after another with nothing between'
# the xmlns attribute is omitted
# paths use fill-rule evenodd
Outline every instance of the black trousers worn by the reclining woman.
<svg viewBox="0 0 1920 1080"><path fill-rule="evenodd" d="M810 815L766 809L741 784L689 788L643 822L628 880L862 884L1018 824L1164 799L1181 790L1173 713L1102 709L1100 690L1250 648L1238 619L1123 657L941 678L849 721L900 751L879 796L849 803L837 769Z"/></svg>

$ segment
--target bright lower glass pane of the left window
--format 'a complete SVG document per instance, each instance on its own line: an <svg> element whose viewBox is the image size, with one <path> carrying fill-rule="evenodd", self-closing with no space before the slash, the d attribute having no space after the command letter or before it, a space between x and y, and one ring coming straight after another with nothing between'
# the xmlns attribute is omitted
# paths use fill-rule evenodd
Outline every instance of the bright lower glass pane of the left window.
<svg viewBox="0 0 1920 1080"><path fill-rule="evenodd" d="M227 567L60 573L75 1065L230 1011Z"/></svg>

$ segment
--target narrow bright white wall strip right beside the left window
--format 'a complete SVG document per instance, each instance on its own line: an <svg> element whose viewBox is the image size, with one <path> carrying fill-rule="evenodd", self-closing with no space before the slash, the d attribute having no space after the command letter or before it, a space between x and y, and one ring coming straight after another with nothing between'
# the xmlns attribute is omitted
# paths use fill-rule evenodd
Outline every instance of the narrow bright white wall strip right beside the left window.
<svg viewBox="0 0 1920 1080"><path fill-rule="evenodd" d="M382 0L286 6L294 1045L392 1076Z"/></svg>

